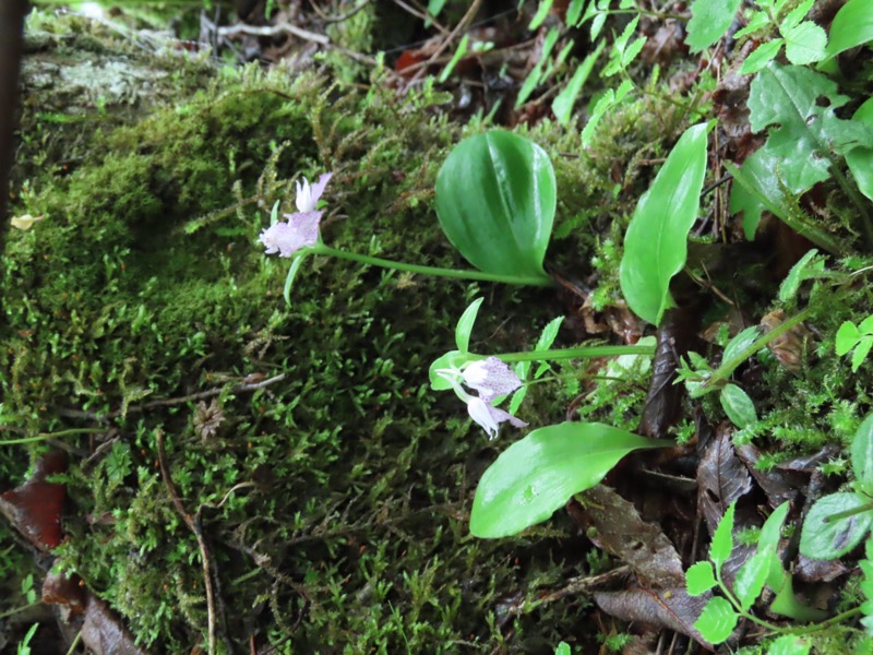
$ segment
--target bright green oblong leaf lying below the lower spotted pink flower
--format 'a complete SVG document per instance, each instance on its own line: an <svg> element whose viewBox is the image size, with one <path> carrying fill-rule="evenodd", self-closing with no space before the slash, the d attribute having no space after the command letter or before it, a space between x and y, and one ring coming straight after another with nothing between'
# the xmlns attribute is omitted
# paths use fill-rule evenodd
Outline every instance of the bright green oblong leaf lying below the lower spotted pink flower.
<svg viewBox="0 0 873 655"><path fill-rule="evenodd" d="M546 521L574 493L594 487L627 453L670 444L603 424L563 422L534 430L482 475L470 532L482 538L517 534Z"/></svg>

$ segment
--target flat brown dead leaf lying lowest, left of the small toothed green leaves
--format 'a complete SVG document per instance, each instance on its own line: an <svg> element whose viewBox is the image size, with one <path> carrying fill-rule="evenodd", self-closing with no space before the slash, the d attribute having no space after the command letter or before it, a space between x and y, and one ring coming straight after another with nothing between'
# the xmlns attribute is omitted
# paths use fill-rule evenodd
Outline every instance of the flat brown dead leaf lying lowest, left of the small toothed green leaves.
<svg viewBox="0 0 873 655"><path fill-rule="evenodd" d="M708 592L696 597L689 596L684 588L594 593L595 603L600 609L617 619L675 630L689 635L707 651L715 651L713 644L694 628L710 597Z"/></svg>

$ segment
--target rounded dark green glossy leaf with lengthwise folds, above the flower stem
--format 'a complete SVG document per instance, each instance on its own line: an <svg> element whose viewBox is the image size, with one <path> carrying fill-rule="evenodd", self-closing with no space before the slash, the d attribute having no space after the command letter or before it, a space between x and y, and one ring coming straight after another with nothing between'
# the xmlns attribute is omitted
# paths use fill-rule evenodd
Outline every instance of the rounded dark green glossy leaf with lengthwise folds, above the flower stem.
<svg viewBox="0 0 873 655"><path fill-rule="evenodd" d="M436 176L436 215L449 240L487 273L548 281L542 260L557 190L546 152L517 134L462 141Z"/></svg>

